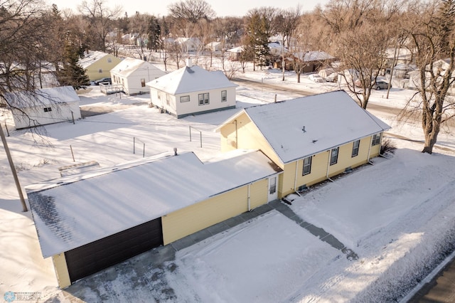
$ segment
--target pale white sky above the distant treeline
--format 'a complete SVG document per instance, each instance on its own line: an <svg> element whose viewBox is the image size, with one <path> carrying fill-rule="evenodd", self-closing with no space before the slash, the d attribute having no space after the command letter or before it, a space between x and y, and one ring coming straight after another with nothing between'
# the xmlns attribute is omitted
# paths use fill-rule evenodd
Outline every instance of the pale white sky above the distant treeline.
<svg viewBox="0 0 455 303"><path fill-rule="evenodd" d="M77 6L82 3L82 0L45 0L50 5L57 4L58 9L72 9L77 11ZM90 3L91 0L87 0ZM128 16L132 16L136 11L141 14L151 14L156 16L168 15L168 6L178 2L178 0L161 0L161 1L143 1L143 0L109 0L105 1L108 6L122 6ZM294 8L300 4L303 11L312 11L317 4L321 6L328 3L328 0L208 0L208 4L212 6L217 16L245 16L247 11L255 7L272 6L279 9Z"/></svg>

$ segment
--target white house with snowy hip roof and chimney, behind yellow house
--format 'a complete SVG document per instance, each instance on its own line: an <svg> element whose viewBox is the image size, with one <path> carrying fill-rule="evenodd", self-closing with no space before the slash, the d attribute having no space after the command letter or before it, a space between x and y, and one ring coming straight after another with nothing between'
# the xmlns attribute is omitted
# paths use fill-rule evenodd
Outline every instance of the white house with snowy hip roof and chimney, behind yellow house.
<svg viewBox="0 0 455 303"><path fill-rule="evenodd" d="M146 83L151 104L181 118L235 108L235 85L222 71L186 66Z"/></svg>

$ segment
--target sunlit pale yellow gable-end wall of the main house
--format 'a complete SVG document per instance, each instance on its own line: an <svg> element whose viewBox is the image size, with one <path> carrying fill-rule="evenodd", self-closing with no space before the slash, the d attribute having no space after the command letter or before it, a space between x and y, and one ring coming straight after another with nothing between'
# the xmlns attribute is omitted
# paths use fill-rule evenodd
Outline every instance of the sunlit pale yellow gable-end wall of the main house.
<svg viewBox="0 0 455 303"><path fill-rule="evenodd" d="M237 121L237 132L235 131L235 122L226 124L220 129L221 151L236 149L237 141L238 149L260 149L265 155L272 159L275 164L283 169L281 160L272 149L269 142L262 136L262 133L259 132L256 124L251 122L250 118L245 113L242 113L235 121Z"/></svg>

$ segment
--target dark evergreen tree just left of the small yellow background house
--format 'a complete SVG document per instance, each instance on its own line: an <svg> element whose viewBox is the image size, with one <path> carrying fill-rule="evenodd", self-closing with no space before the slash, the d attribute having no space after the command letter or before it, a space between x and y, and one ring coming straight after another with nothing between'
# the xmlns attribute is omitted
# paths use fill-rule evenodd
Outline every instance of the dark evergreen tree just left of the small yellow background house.
<svg viewBox="0 0 455 303"><path fill-rule="evenodd" d="M90 79L78 63L81 51L83 52L80 47L75 46L73 43L66 43L63 66L57 73L60 85L71 85L75 90L90 85Z"/></svg>

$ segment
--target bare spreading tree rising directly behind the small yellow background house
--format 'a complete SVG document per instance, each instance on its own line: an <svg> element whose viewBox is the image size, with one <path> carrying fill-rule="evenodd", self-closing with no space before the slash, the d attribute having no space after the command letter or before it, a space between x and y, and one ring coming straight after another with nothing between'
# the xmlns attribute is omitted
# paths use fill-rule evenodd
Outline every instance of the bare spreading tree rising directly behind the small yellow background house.
<svg viewBox="0 0 455 303"><path fill-rule="evenodd" d="M90 20L90 28L95 35L95 48L106 51L107 33L112 30L114 19L122 11L120 6L108 9L104 0L83 0L79 11Z"/></svg>

